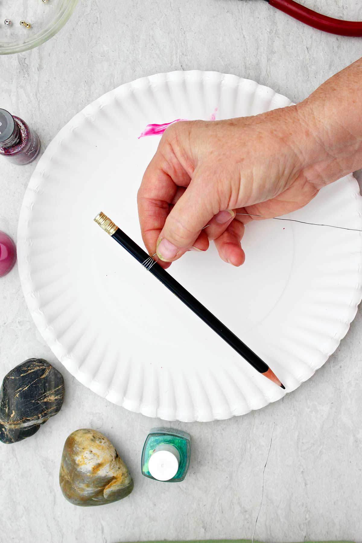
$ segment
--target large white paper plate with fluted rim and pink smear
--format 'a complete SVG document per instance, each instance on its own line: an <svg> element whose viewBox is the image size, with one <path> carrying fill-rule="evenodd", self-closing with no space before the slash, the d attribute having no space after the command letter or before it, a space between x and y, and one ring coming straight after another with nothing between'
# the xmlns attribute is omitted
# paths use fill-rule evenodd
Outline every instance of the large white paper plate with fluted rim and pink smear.
<svg viewBox="0 0 362 543"><path fill-rule="evenodd" d="M159 137L148 123L255 115L290 105L215 72L139 79L78 113L39 161L24 197L18 264L43 338L87 387L131 411L207 421L258 409L283 390L253 370L93 222L103 210L142 245L136 193ZM352 175L290 215L360 229ZM361 300L361 235L268 220L247 225L241 268L211 248L170 268L255 350L287 392L336 349Z"/></svg>

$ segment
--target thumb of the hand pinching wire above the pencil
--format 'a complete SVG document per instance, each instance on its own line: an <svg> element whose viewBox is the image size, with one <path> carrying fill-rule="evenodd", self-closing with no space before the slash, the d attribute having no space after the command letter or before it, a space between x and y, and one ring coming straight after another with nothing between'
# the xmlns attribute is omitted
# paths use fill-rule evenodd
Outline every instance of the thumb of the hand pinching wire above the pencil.
<svg viewBox="0 0 362 543"><path fill-rule="evenodd" d="M209 176L207 183L202 178L195 170L192 181L164 223L156 246L158 258L164 262L177 260L192 247L202 228L219 211Z"/></svg>

